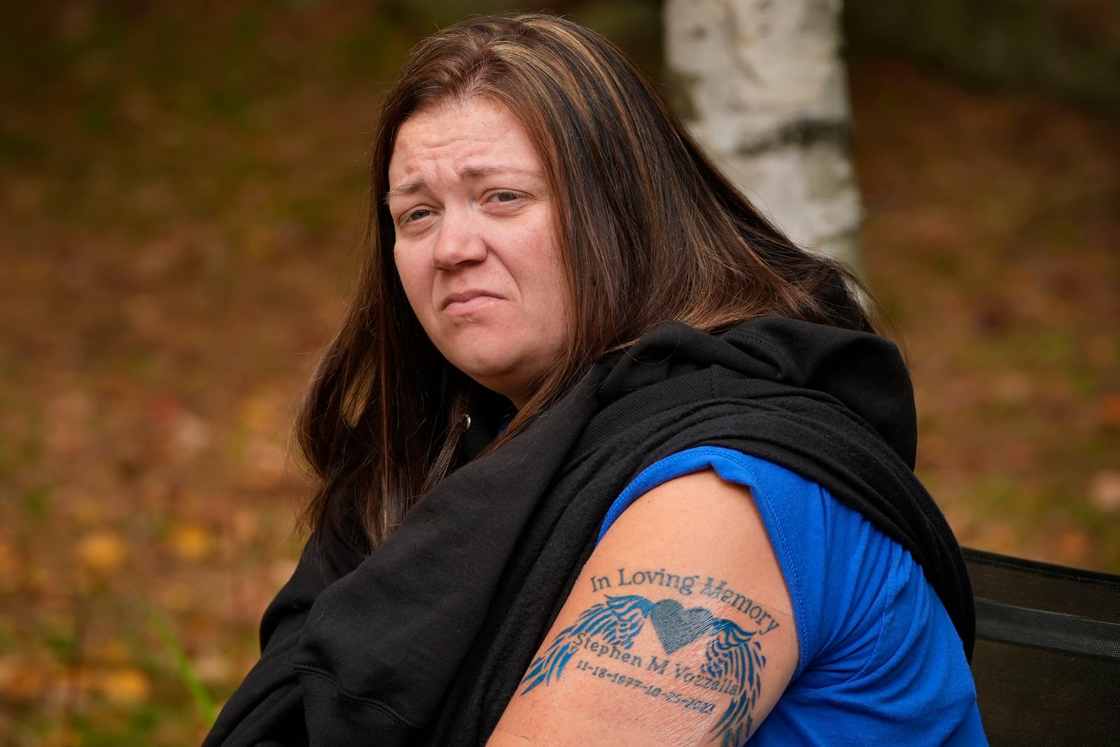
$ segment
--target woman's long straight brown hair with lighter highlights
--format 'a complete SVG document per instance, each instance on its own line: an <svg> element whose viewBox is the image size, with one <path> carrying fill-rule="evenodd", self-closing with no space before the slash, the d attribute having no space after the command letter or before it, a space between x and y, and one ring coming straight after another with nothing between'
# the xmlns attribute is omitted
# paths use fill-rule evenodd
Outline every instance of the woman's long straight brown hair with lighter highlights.
<svg viewBox="0 0 1120 747"><path fill-rule="evenodd" d="M778 315L874 329L850 291L858 282L763 217L605 38L535 13L446 28L412 49L388 91L360 286L299 420L300 446L321 478L307 522L321 531L356 520L364 536L349 539L366 549L447 474L479 396L412 314L384 197L401 123L474 96L507 106L536 147L576 318L558 365L492 448L605 352L666 320L713 330Z"/></svg>

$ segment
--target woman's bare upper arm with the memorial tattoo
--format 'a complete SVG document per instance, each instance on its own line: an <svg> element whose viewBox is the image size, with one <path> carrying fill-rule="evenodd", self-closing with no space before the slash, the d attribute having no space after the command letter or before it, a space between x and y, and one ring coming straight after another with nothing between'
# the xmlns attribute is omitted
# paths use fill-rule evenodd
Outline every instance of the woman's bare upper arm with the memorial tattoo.
<svg viewBox="0 0 1120 747"><path fill-rule="evenodd" d="M797 634L747 487L704 470L615 522L489 745L738 745L785 690Z"/></svg>

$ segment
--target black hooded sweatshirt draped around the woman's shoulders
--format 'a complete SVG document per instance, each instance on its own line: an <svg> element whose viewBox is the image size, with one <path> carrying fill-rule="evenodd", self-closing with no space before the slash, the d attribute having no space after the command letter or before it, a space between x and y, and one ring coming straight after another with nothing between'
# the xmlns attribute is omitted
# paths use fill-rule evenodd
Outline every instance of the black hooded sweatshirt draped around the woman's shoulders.
<svg viewBox="0 0 1120 747"><path fill-rule="evenodd" d="M778 464L860 511L922 566L971 653L968 575L913 474L897 348L784 318L720 335L670 323L452 473L367 558L329 538L309 545L205 745L484 743L612 502L645 467L704 445Z"/></svg>

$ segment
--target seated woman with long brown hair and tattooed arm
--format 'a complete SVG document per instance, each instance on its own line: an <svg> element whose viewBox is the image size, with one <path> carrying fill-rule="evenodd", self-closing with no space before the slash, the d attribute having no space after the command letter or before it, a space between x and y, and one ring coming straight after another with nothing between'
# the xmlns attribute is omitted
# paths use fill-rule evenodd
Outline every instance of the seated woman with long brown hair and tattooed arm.
<svg viewBox="0 0 1120 747"><path fill-rule="evenodd" d="M208 745L984 744L897 351L620 53L436 34L372 184L312 541Z"/></svg>

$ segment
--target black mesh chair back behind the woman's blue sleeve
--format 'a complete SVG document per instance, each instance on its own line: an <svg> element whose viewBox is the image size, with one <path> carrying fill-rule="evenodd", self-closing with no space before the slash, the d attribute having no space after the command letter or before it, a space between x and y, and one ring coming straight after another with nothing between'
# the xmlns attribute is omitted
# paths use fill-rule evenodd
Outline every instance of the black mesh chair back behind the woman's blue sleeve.
<svg viewBox="0 0 1120 747"><path fill-rule="evenodd" d="M1120 576L964 550L992 747L1120 747Z"/></svg>

